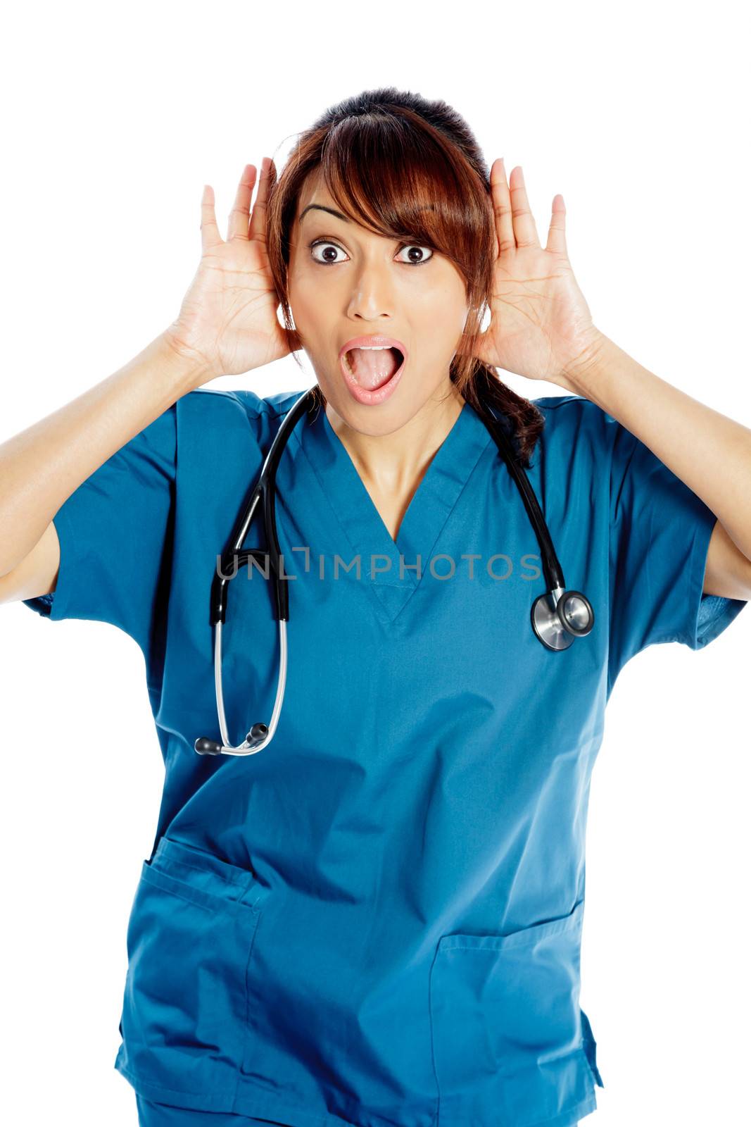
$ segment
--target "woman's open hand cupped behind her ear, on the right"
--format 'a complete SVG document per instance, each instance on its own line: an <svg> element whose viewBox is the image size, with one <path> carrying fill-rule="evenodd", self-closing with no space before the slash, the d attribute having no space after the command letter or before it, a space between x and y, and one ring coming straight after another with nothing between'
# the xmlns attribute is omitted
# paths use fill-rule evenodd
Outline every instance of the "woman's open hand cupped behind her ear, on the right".
<svg viewBox="0 0 751 1127"><path fill-rule="evenodd" d="M563 196L553 199L547 246L539 245L521 167L502 159L490 171L498 256L491 320L473 355L528 380L566 382L566 373L597 350L602 334L592 323L569 261Z"/></svg>

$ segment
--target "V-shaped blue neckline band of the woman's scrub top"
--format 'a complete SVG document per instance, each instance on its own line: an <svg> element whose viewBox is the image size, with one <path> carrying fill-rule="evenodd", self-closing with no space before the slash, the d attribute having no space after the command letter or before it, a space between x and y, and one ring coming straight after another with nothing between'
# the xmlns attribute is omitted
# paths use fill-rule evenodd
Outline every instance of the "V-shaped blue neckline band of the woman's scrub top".
<svg viewBox="0 0 751 1127"><path fill-rule="evenodd" d="M299 433L299 428L293 433ZM299 438L303 452L352 556L360 556L363 583L372 588L388 621L395 619L419 586L446 521L492 441L477 412L465 401L412 496L394 542L325 410L305 419Z"/></svg>

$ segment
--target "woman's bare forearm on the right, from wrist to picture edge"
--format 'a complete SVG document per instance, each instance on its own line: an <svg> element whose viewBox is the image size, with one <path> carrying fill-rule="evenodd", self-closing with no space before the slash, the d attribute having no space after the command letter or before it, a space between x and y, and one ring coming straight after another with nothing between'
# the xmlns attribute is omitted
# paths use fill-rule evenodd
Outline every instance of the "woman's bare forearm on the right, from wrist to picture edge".
<svg viewBox="0 0 751 1127"><path fill-rule="evenodd" d="M749 427L654 375L604 335L564 375L564 387L611 415L685 481L751 560Z"/></svg>

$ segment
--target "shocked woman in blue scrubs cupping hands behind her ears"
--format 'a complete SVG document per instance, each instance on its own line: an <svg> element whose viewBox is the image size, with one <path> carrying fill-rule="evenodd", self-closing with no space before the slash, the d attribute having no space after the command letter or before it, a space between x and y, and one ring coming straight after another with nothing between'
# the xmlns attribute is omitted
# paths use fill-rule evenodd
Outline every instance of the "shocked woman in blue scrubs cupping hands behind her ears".
<svg viewBox="0 0 751 1127"><path fill-rule="evenodd" d="M571 1127L601 1084L579 969L605 707L641 649L698 649L745 605L751 434L596 328L562 197L543 249L521 170L489 177L445 103L366 91L278 181L263 161L251 215L254 179L226 241L205 189L176 321L0 451L3 600L131 635L164 756L115 1065L150 1127ZM301 347L318 409L276 479L289 666L245 757L217 726L209 595L301 392L200 385ZM530 402L499 367L567 394ZM593 612L560 651L483 405ZM280 659L254 530L223 625L235 748Z"/></svg>

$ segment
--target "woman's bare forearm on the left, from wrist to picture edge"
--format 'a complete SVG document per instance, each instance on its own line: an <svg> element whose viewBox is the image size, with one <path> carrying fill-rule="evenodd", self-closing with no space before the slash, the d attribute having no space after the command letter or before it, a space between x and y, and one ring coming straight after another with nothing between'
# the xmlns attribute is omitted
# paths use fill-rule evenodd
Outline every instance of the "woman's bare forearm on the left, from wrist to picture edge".
<svg viewBox="0 0 751 1127"><path fill-rule="evenodd" d="M0 576L34 548L63 502L181 396L217 373L164 334L124 367L0 445Z"/></svg>

